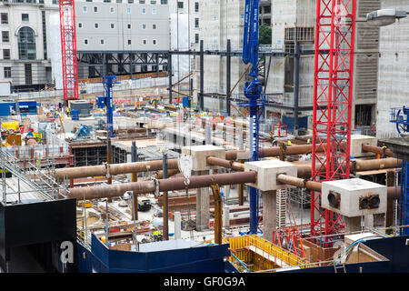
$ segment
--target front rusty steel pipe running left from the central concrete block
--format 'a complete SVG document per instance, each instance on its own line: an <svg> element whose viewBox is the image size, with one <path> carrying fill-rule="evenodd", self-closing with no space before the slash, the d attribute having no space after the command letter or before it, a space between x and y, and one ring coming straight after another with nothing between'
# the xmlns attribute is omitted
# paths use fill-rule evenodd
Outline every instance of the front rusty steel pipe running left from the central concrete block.
<svg viewBox="0 0 409 291"><path fill-rule="evenodd" d="M162 162L162 161L161 161ZM238 172L218 175L192 176L188 188L203 188L210 186L212 180L219 186L234 185L239 183L255 183L255 172ZM184 178L157 180L159 192L183 190L186 188ZM77 199L96 199L123 196L126 191L134 194L155 193L155 181L132 182L105 186L90 186L70 189L68 197Z"/></svg>

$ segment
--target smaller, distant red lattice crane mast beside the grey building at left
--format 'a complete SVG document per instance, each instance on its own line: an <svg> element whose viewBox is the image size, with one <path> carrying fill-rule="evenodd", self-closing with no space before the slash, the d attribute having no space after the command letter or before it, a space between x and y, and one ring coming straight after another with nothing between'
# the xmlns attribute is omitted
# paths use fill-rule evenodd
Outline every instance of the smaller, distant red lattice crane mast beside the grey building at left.
<svg viewBox="0 0 409 291"><path fill-rule="evenodd" d="M78 99L74 0L59 0L65 104Z"/></svg>

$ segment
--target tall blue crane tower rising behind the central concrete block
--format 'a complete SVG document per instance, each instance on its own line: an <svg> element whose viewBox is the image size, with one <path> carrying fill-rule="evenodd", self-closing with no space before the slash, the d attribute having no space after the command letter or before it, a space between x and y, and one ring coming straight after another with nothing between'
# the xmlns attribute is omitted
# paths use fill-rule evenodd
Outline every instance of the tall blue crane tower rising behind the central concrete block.
<svg viewBox="0 0 409 291"><path fill-rule="evenodd" d="M259 127L260 115L264 111L263 85L258 80L258 18L260 0L245 0L244 7L244 39L243 62L251 63L248 75L251 80L244 84L244 95L248 103L240 104L249 108L250 112L250 161L259 159ZM259 102L259 99L262 102ZM256 234L258 228L258 190L250 187L250 234Z"/></svg>

